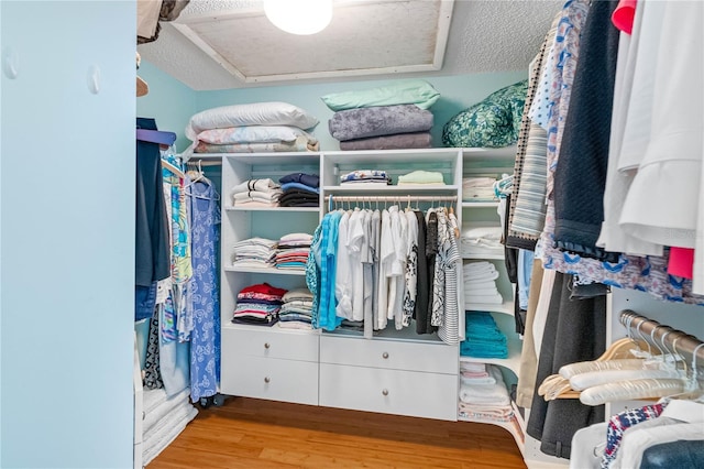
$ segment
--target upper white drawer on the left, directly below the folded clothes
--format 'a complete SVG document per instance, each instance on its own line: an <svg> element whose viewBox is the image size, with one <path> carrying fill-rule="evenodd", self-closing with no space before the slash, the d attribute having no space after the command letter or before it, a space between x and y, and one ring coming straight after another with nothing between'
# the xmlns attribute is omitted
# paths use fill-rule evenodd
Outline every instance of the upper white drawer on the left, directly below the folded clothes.
<svg viewBox="0 0 704 469"><path fill-rule="evenodd" d="M280 358L318 361L319 335L288 330L222 328L222 360L230 357Z"/></svg>

